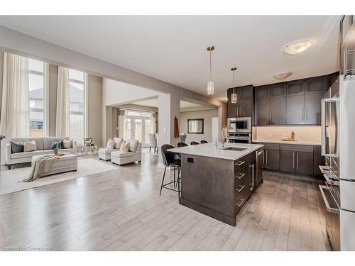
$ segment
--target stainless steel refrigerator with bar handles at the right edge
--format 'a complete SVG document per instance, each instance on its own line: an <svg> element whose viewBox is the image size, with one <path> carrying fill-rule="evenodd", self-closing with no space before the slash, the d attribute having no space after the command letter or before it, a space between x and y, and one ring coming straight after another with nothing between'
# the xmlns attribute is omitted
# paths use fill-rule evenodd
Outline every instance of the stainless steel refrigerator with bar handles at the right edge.
<svg viewBox="0 0 355 266"><path fill-rule="evenodd" d="M327 233L334 250L355 250L355 76L339 76L322 100Z"/></svg>

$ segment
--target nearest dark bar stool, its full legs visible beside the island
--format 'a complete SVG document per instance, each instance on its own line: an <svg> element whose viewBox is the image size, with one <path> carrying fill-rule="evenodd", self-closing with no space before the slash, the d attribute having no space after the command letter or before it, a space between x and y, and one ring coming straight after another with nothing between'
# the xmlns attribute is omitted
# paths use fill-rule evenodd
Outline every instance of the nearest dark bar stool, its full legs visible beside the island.
<svg viewBox="0 0 355 266"><path fill-rule="evenodd" d="M178 192L178 196L180 199L180 167L181 167L181 157L179 153L171 153L168 151L168 149L172 149L174 148L174 146L169 145L169 144L164 144L163 146L161 146L161 155L163 157L163 164L165 166L164 169L164 174L163 174L163 180L161 181L161 186L160 186L160 192L159 192L159 196L161 195L161 190L163 188L165 189L170 189L173 190L174 192ZM169 182L164 184L164 178L165 178L165 172L166 172L166 167L174 167L174 181ZM178 180L176 181L176 174L175 174L175 170L178 168ZM178 190L176 189L172 189L170 187L166 187L169 184L174 183L174 187L176 185L176 182L178 182Z"/></svg>

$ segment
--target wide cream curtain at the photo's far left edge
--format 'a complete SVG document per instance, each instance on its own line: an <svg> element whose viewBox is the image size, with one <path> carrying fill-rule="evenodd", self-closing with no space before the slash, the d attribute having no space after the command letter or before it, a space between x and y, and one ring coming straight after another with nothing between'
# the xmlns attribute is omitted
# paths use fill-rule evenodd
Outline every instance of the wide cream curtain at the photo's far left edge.
<svg viewBox="0 0 355 266"><path fill-rule="evenodd" d="M10 138L28 137L28 58L4 52L0 134Z"/></svg>

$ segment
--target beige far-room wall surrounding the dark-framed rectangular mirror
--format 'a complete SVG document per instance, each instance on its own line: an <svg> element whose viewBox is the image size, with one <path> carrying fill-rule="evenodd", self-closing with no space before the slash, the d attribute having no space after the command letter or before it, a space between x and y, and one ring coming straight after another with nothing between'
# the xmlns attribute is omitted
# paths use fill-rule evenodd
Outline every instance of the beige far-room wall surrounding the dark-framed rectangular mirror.
<svg viewBox="0 0 355 266"><path fill-rule="evenodd" d="M192 111L180 113L180 133L187 134L187 119L204 118L204 133L203 134L187 134L186 143L190 144L191 141L207 140L212 142L212 117L218 117L218 110L208 111Z"/></svg>

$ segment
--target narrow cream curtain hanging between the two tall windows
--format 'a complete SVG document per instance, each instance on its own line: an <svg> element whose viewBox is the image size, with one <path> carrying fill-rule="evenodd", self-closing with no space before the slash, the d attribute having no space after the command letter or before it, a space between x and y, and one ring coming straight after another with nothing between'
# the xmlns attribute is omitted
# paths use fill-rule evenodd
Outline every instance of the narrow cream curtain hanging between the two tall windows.
<svg viewBox="0 0 355 266"><path fill-rule="evenodd" d="M57 126L55 128L55 134L58 137L70 135L69 110L69 70L65 67L58 67Z"/></svg>

